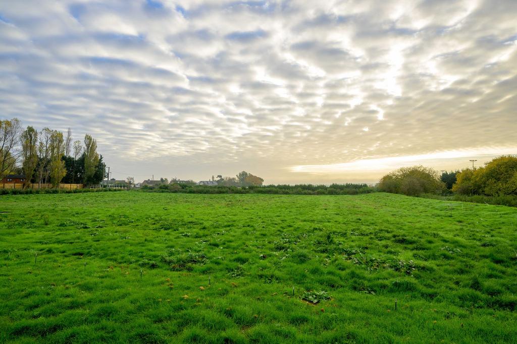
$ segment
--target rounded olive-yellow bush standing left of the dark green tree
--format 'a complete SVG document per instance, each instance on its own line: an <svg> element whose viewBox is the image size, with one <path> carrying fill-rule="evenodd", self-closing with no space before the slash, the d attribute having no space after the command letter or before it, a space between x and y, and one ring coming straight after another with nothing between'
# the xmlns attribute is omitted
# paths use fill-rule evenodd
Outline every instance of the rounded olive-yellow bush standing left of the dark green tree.
<svg viewBox="0 0 517 344"><path fill-rule="evenodd" d="M424 166L402 167L379 181L379 190L416 196L421 193L438 193L445 189L438 172Z"/></svg>

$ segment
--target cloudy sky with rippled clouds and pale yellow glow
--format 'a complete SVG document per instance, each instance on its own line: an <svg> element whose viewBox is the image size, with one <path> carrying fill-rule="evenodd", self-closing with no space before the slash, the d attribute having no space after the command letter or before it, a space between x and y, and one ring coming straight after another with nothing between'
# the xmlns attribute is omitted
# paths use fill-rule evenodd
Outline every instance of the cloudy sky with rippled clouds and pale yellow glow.
<svg viewBox="0 0 517 344"><path fill-rule="evenodd" d="M517 154L517 1L0 0L0 117L112 177L378 181Z"/></svg>

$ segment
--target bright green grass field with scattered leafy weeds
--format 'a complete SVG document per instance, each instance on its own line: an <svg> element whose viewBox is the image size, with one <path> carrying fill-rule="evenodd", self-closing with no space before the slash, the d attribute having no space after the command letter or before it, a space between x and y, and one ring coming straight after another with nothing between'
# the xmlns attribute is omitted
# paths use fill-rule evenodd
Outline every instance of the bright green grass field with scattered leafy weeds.
<svg viewBox="0 0 517 344"><path fill-rule="evenodd" d="M515 208L116 192L0 211L0 342L517 342Z"/></svg>

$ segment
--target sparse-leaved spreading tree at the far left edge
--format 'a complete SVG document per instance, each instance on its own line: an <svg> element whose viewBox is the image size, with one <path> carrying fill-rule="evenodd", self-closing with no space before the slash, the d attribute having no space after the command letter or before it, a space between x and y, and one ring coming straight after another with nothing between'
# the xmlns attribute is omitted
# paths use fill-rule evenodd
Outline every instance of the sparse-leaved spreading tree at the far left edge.
<svg viewBox="0 0 517 344"><path fill-rule="evenodd" d="M16 151L20 140L21 122L18 118L0 120L0 179L10 174L20 152Z"/></svg>

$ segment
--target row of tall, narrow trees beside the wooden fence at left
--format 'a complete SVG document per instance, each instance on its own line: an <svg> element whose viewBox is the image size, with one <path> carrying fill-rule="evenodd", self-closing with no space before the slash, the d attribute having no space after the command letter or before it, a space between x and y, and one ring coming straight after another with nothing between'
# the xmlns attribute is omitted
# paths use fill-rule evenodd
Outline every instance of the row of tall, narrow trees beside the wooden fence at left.
<svg viewBox="0 0 517 344"><path fill-rule="evenodd" d="M10 174L25 177L30 183L97 184L104 178L105 164L97 152L97 141L86 134L84 140L72 139L63 132L32 126L25 129L19 119L0 120L0 179Z"/></svg>

